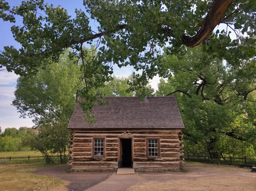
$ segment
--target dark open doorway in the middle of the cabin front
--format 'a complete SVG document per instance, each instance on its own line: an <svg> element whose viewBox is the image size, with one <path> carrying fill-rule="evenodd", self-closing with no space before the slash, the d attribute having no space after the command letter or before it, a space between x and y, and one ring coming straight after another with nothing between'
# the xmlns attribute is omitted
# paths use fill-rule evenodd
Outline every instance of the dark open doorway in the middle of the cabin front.
<svg viewBox="0 0 256 191"><path fill-rule="evenodd" d="M132 139L120 139L120 168L132 168Z"/></svg>

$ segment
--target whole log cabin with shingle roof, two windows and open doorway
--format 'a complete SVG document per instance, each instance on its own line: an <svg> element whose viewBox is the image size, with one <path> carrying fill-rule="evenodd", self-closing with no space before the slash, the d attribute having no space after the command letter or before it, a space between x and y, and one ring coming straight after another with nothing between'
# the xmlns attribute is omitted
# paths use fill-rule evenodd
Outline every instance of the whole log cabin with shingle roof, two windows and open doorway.
<svg viewBox="0 0 256 191"><path fill-rule="evenodd" d="M79 101L82 99L79 98ZM68 129L68 166L74 171L134 168L137 171L180 171L184 166L181 119L175 97L105 97L85 120L76 104Z"/></svg>

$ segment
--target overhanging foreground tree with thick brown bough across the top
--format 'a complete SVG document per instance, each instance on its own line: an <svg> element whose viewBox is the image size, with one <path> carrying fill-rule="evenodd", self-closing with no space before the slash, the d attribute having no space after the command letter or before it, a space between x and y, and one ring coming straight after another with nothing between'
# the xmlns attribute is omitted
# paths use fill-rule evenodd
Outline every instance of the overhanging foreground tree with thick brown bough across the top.
<svg viewBox="0 0 256 191"><path fill-rule="evenodd" d="M255 58L254 0L84 0L87 13L77 9L73 19L65 9L44 5L43 0L23 1L13 8L4 0L0 2L3 20L15 23L16 17L23 19L22 25L11 28L22 47L4 47L0 67L22 76L34 75L70 47L76 51L74 56L81 58L84 81L97 76L94 83L85 83L83 97L90 103L96 100L90 94L91 85L100 87L111 80L112 63L120 68L131 65L141 73L135 78L137 89L143 89L157 73L164 76L159 56L166 44L170 54L181 56L187 47L199 45L212 58L223 58L234 68L240 67L244 75L255 77L255 65L244 68L241 64ZM89 25L89 17L99 24L96 32ZM226 30L214 31L220 24ZM228 29L237 39L231 40ZM245 35L244 40L240 34ZM101 46L91 57L93 62L86 65L83 45L95 39Z"/></svg>

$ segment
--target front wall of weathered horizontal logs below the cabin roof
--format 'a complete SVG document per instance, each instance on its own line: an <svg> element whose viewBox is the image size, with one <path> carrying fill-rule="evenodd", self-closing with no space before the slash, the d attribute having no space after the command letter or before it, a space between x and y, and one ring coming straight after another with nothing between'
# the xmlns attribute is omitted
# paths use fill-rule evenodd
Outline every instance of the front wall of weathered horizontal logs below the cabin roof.
<svg viewBox="0 0 256 191"><path fill-rule="evenodd" d="M133 168L143 171L179 171L183 168L183 140L180 129L129 129L129 132L131 134L113 129L71 129L69 167L74 170L118 168L118 139L129 136L133 139ZM93 156L93 137L105 137L104 157ZM160 138L159 157L146 157L146 137Z"/></svg>

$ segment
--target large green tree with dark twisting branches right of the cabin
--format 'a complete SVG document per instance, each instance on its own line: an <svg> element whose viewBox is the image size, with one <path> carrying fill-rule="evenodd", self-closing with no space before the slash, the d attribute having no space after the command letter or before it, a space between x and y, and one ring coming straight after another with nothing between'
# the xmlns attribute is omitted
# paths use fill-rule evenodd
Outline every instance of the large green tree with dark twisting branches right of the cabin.
<svg viewBox="0 0 256 191"><path fill-rule="evenodd" d="M231 141L243 145L239 153L245 153L247 145L255 156L255 79L240 76L227 63L207 59L206 53L195 49L181 60L166 55L163 63L169 78L160 81L156 94L177 98L186 127L187 152L220 157L233 152L228 147Z"/></svg>

